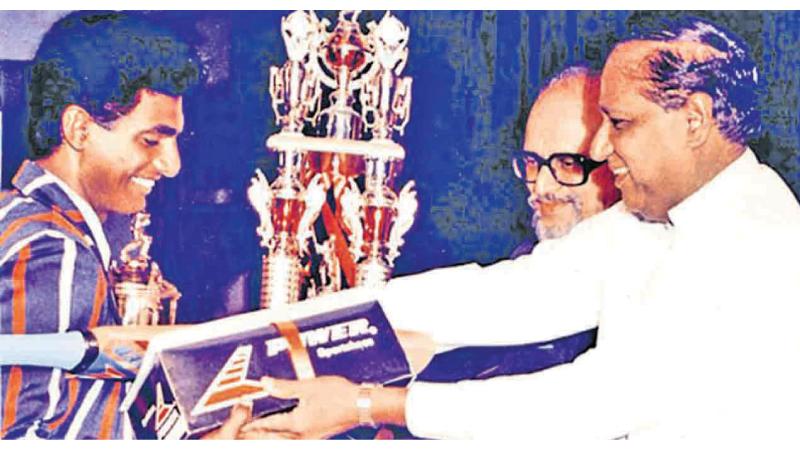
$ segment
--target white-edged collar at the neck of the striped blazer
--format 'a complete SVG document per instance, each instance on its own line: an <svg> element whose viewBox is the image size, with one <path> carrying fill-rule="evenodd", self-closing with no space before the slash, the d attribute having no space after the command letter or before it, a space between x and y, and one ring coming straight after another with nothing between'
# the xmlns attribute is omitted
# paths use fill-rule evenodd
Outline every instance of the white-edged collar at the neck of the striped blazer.
<svg viewBox="0 0 800 450"><path fill-rule="evenodd" d="M67 183L35 162L25 161L12 180L14 186L26 196L35 197L46 205L55 205L63 210L77 209L83 216L92 234L103 267L108 269L111 262L111 249L103 232L103 225L94 208L78 195ZM55 188L54 186L55 185Z"/></svg>

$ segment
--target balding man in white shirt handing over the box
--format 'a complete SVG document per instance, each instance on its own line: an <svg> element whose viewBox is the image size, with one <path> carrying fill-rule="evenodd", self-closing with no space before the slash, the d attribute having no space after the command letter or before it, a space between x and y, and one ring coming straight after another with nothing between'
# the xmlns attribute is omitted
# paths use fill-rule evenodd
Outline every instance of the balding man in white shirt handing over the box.
<svg viewBox="0 0 800 450"><path fill-rule="evenodd" d="M267 379L288 414L245 435L313 438L370 422L436 438L797 439L800 206L746 147L758 130L743 44L691 20L609 55L592 157L624 205L529 256L390 282L393 325L443 345L599 326L597 348L529 375L409 388ZM513 281L516 280L516 283ZM535 292L515 289L520 281Z"/></svg>

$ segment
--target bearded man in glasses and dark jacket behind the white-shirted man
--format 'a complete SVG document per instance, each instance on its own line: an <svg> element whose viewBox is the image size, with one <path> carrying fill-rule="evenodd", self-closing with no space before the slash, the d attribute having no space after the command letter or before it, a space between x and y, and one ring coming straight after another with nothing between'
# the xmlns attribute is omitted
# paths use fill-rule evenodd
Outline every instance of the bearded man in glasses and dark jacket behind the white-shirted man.
<svg viewBox="0 0 800 450"><path fill-rule="evenodd" d="M531 225L539 241L568 234L619 200L608 166L587 156L602 123L599 95L600 75L573 66L545 84L528 114L524 150L514 152L512 166L530 194ZM529 254L536 243L524 241L511 259ZM457 348L437 355L418 379L448 382L543 370L571 362L592 347L596 331L535 344Z"/></svg>

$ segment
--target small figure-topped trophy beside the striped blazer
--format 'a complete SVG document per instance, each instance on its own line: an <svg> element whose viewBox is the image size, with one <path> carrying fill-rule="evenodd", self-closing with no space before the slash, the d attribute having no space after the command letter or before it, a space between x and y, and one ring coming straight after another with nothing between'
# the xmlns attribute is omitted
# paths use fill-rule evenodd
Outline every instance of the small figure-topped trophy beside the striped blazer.
<svg viewBox="0 0 800 450"><path fill-rule="evenodd" d="M164 279L158 264L150 257L153 237L144 232L148 225L150 214L136 213L131 224L133 240L120 252L122 264L116 261L111 264L111 281L122 325L164 324L161 310L165 301L169 303L166 323L175 324L181 293Z"/></svg>

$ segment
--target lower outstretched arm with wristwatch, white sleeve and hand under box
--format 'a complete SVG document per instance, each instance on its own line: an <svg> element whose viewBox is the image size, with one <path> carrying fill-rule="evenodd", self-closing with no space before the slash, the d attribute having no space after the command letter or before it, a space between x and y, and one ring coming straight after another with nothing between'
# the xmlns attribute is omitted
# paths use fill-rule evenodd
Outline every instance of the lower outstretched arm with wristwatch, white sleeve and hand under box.
<svg viewBox="0 0 800 450"><path fill-rule="evenodd" d="M321 439L358 425L405 425L417 436L454 439L609 439L652 419L651 378L620 373L589 354L542 372L409 388L364 387L341 377L262 380L295 409L242 428L243 439ZM365 400L366 399L366 400Z"/></svg>

